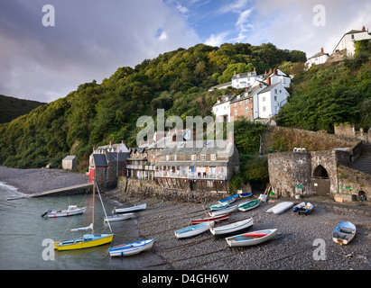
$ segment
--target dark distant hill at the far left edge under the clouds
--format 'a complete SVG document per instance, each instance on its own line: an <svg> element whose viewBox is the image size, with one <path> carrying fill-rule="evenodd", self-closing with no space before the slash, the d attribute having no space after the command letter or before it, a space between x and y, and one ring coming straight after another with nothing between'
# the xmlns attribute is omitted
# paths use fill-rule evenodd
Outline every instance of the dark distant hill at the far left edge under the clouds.
<svg viewBox="0 0 371 288"><path fill-rule="evenodd" d="M10 122L45 103L0 94L0 123Z"/></svg>

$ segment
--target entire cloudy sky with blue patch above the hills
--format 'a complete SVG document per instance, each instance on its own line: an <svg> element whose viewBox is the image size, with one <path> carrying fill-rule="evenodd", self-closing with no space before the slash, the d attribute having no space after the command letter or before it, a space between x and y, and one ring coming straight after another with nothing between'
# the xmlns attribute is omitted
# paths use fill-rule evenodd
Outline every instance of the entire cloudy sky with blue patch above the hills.
<svg viewBox="0 0 371 288"><path fill-rule="evenodd" d="M199 43L331 54L363 25L368 0L0 0L0 94L50 103Z"/></svg>

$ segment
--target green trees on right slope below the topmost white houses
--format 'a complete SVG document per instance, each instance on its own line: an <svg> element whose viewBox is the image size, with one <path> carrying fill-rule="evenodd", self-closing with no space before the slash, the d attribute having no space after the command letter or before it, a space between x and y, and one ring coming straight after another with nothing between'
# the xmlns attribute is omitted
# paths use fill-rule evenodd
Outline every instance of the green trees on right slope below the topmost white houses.
<svg viewBox="0 0 371 288"><path fill-rule="evenodd" d="M278 124L333 131L334 123L371 127L371 41L356 42L356 56L341 63L311 67L298 75ZM295 84L295 82L294 82Z"/></svg>

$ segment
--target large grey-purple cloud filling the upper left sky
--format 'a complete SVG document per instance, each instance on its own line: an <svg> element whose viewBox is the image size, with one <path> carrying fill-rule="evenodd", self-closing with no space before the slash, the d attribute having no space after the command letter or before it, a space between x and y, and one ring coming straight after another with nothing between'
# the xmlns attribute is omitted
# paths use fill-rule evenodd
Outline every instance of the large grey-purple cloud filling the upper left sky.
<svg viewBox="0 0 371 288"><path fill-rule="evenodd" d="M2 2L0 94L51 102L118 67L200 42L176 7L162 0L48 0L55 27L42 25L44 4Z"/></svg>

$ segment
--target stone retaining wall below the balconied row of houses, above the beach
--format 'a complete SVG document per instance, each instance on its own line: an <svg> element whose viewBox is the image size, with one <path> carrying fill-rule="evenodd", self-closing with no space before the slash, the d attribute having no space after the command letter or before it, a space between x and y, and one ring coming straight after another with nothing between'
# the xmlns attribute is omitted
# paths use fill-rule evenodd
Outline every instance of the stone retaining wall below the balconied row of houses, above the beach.
<svg viewBox="0 0 371 288"><path fill-rule="evenodd" d="M183 186L165 187L157 181L139 180L129 177L119 177L117 189L129 196L152 198L156 197L165 200L176 200L184 202L218 202L221 198L227 197L227 193L211 193L202 191L190 191Z"/></svg>

